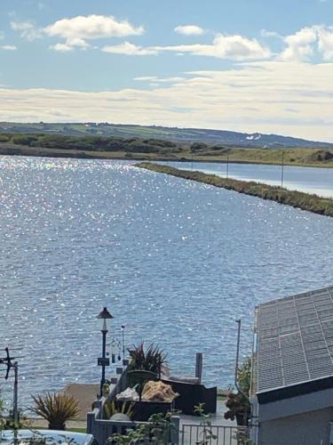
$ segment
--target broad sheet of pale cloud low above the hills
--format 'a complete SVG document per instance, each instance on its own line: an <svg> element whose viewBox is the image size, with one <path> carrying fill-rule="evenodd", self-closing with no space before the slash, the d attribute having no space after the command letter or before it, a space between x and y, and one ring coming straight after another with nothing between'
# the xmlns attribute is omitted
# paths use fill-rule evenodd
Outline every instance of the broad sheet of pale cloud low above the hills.
<svg viewBox="0 0 333 445"><path fill-rule="evenodd" d="M333 142L332 70L333 63L257 61L186 73L185 80L153 89L0 89L0 121L207 127Z"/></svg>

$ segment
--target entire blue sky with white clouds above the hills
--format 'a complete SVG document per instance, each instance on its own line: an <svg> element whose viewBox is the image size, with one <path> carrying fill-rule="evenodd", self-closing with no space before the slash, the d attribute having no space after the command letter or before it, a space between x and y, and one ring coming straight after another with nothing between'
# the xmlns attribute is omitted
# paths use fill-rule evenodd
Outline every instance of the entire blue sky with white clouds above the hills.
<svg viewBox="0 0 333 445"><path fill-rule="evenodd" d="M0 121L333 142L333 0L0 0Z"/></svg>

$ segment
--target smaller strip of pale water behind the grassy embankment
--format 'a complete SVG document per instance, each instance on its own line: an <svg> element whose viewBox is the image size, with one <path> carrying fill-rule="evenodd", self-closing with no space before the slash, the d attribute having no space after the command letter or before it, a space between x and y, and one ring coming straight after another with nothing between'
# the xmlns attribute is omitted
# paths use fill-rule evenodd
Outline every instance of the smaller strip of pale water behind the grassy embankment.
<svg viewBox="0 0 333 445"><path fill-rule="evenodd" d="M226 164L222 163L168 162L167 164L184 170L193 169L226 177ZM242 181L264 182L280 187L282 169L281 166L230 163L228 176ZM283 187L289 190L305 191L306 193L315 193L319 196L333 198L333 169L284 166Z"/></svg>

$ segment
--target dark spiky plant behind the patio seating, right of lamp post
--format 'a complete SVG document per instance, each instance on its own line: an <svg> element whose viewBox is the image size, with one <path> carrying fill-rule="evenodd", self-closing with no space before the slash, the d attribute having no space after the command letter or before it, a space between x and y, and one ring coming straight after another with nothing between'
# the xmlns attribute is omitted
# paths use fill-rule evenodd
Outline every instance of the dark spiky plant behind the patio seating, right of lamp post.
<svg viewBox="0 0 333 445"><path fill-rule="evenodd" d="M149 344L146 350L144 342L133 345L132 349L129 349L128 352L131 357L131 370L140 369L157 374L167 359L167 354L154 343Z"/></svg>

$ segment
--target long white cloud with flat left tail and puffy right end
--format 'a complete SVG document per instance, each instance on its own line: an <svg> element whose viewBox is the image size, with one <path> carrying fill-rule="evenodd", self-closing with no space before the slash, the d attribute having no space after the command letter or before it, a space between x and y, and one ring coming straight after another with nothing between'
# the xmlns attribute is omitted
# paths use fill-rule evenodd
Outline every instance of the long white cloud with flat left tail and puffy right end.
<svg viewBox="0 0 333 445"><path fill-rule="evenodd" d="M193 55L232 59L235 61L259 60L270 57L271 52L256 39L243 36L218 35L212 44L178 44L170 46L137 46L129 42L105 46L102 51L125 55L152 55L163 52L190 53Z"/></svg>

